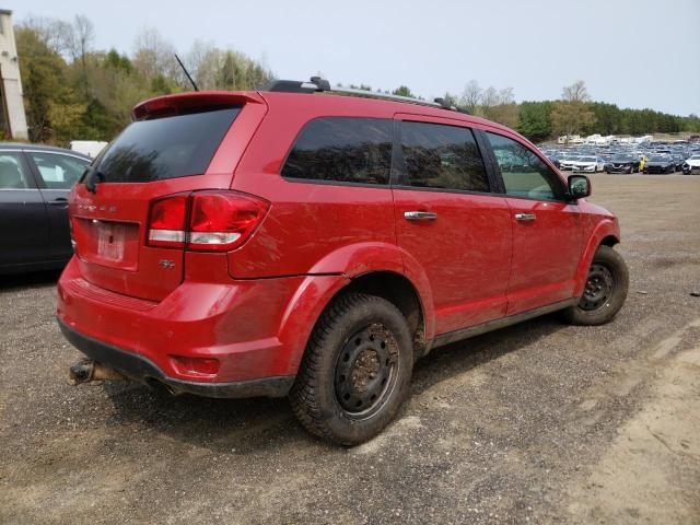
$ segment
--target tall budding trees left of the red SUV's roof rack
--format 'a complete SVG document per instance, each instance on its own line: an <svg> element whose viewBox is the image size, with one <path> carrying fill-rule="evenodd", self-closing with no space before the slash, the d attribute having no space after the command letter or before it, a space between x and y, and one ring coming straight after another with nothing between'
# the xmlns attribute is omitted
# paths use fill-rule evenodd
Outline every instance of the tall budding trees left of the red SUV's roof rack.
<svg viewBox="0 0 700 525"><path fill-rule="evenodd" d="M94 47L85 16L71 22L30 18L15 27L30 140L112 140L145 98L191 90L175 47L143 30L130 55ZM200 90L249 90L272 78L269 68L234 49L196 40L183 61Z"/></svg>

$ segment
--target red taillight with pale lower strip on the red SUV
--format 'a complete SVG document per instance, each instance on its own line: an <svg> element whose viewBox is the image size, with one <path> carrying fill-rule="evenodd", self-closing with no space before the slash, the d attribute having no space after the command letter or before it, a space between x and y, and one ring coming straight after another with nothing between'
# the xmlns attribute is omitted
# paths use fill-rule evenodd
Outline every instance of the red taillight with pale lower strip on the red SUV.
<svg viewBox="0 0 700 525"><path fill-rule="evenodd" d="M195 191L154 201L149 219L151 246L230 250L245 243L269 205L235 191Z"/></svg>

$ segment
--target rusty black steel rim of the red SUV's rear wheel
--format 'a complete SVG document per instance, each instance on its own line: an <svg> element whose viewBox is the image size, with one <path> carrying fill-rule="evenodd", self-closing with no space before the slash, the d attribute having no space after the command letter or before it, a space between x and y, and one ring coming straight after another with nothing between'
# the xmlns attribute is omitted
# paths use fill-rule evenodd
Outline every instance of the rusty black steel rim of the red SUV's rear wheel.
<svg viewBox="0 0 700 525"><path fill-rule="evenodd" d="M398 376L398 345L384 325L369 325L343 343L334 374L336 402L352 419L375 413Z"/></svg>

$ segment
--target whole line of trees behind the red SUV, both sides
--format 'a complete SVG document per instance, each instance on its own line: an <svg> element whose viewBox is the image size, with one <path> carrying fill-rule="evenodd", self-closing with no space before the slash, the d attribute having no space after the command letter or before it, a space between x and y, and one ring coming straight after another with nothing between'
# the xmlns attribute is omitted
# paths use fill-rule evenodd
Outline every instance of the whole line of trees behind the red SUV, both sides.
<svg viewBox="0 0 700 525"><path fill-rule="evenodd" d="M67 144L70 140L112 140L130 119L131 108L152 96L191 89L175 59L175 47L158 30L145 28L132 52L95 49L95 30L82 15L72 21L30 18L15 27L30 139ZM272 71L246 55L196 40L183 62L201 90L257 89ZM350 84L350 88L372 90ZM418 97L407 85L382 93ZM565 86L560 100L515 102L512 88L481 88L469 81L448 103L511 128L533 141L561 135L642 135L700 132L700 119L652 109L619 108L593 102L585 83Z"/></svg>

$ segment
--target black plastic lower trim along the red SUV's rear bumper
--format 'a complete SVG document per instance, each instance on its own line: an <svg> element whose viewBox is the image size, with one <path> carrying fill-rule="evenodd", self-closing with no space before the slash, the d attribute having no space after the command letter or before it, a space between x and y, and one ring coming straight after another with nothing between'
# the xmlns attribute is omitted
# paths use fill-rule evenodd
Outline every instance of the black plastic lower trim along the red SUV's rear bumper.
<svg viewBox="0 0 700 525"><path fill-rule="evenodd" d="M60 319L58 326L68 341L90 359L116 370L130 380L152 385L159 382L174 394L195 394L203 397L284 397L294 376L264 377L231 383L197 383L168 377L149 359L106 345L73 330Z"/></svg>

